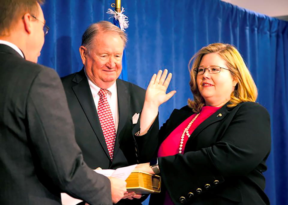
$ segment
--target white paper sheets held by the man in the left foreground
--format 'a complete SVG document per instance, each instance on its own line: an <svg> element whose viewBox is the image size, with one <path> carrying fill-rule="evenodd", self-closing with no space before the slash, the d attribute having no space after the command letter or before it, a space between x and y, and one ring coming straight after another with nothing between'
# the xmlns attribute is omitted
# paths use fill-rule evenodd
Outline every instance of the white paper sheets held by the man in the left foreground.
<svg viewBox="0 0 288 205"><path fill-rule="evenodd" d="M116 170L114 169L100 169L100 170L94 170L98 174L102 174L106 177L116 177L122 180L126 180L131 172L135 169L137 164L127 166L127 167L121 167ZM75 199L66 193L61 193L61 201L63 205L75 205L80 203L82 200L80 199Z"/></svg>

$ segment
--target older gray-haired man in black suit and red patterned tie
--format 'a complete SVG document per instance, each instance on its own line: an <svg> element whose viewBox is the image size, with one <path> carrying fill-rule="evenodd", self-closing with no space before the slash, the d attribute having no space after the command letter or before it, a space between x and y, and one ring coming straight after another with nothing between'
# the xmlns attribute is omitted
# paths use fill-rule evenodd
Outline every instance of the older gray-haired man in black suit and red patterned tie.
<svg viewBox="0 0 288 205"><path fill-rule="evenodd" d="M76 142L83 152L84 161L93 169L115 169L148 162L152 157L152 153L151 156L149 153L144 154L144 144L149 142L149 135L142 134L147 130L141 131L142 136L135 135L140 131L139 126L137 128L135 125L143 108L145 90L117 79L122 71L126 42L126 34L110 22L101 21L90 25L82 36L79 48L83 69L61 78L75 124ZM113 117L109 129L115 133L112 148L99 118L99 112L102 112L99 106L101 90L108 92L107 107ZM158 118L156 121L151 131L158 130ZM133 193L125 195L125 198L132 199L131 195ZM140 198L140 195L133 195L133 198ZM119 204L140 202L126 199Z"/></svg>

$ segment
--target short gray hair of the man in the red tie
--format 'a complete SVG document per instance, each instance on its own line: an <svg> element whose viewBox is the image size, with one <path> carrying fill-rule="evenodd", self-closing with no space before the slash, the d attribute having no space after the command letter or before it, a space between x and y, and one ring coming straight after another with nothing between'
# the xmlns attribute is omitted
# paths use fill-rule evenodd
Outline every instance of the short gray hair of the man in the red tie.
<svg viewBox="0 0 288 205"><path fill-rule="evenodd" d="M122 31L119 27L109 21L99 21L97 23L91 24L82 35L81 45L89 47L92 40L97 34L105 32L116 32L117 34L119 34L125 48L127 43L127 34L125 34L124 31Z"/></svg>

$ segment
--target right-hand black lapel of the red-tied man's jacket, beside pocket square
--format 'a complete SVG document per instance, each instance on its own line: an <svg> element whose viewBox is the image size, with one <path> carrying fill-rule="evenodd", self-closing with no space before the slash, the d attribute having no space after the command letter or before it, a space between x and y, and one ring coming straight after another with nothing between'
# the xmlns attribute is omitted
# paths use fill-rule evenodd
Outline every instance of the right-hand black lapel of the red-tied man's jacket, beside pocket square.
<svg viewBox="0 0 288 205"><path fill-rule="evenodd" d="M125 84L117 79L116 80L117 85L117 100L118 100L118 110L119 110L119 122L118 122L118 129L116 133L116 141L115 141L115 147L114 147L114 154L117 154L117 151L119 150L119 142L121 140L121 131L123 130L127 119L128 119L128 107L130 106L130 97L128 94L128 89L125 86Z"/></svg>

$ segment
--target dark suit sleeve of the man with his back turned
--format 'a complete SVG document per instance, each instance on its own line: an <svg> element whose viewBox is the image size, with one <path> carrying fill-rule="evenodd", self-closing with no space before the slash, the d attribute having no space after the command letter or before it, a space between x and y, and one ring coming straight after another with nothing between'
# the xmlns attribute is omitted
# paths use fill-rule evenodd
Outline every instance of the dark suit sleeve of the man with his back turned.
<svg viewBox="0 0 288 205"><path fill-rule="evenodd" d="M110 180L83 161L63 86L54 70L44 68L38 73L26 110L30 149L42 178L89 204L112 204Z"/></svg>

